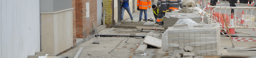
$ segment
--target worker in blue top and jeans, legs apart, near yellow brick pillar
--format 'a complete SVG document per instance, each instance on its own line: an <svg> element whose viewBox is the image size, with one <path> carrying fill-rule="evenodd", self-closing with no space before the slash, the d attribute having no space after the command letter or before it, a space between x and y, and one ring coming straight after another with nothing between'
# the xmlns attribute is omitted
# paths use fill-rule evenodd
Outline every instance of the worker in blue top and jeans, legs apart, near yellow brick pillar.
<svg viewBox="0 0 256 58"><path fill-rule="evenodd" d="M121 12L121 22L123 22L123 13L125 12L125 9L126 11L129 13L130 17L131 17L131 22L133 22L133 15L131 14L131 10L130 10L130 7L129 7L129 0L121 0L123 3L122 3L122 12Z"/></svg>

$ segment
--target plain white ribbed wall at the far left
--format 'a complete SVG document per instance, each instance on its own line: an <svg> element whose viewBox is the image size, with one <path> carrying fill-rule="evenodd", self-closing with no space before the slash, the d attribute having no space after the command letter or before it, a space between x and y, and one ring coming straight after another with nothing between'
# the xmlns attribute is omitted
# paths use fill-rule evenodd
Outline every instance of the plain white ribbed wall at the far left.
<svg viewBox="0 0 256 58"><path fill-rule="evenodd" d="M39 0L0 0L0 58L40 51Z"/></svg>

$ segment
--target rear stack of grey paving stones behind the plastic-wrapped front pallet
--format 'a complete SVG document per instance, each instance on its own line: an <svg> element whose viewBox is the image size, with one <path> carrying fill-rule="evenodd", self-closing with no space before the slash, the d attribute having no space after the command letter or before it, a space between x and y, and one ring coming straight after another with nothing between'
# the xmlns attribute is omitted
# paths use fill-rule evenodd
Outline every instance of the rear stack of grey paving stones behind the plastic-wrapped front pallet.
<svg viewBox="0 0 256 58"><path fill-rule="evenodd" d="M166 16L163 17L164 18L164 31L168 28L168 27L172 27L179 19L184 19L184 18L190 18L193 21L199 23L202 21L201 16L197 15L197 14L189 14L189 13L173 13L172 15L170 13L167 13ZM203 17L203 22L205 22L205 24L207 24L208 19L207 17Z"/></svg>

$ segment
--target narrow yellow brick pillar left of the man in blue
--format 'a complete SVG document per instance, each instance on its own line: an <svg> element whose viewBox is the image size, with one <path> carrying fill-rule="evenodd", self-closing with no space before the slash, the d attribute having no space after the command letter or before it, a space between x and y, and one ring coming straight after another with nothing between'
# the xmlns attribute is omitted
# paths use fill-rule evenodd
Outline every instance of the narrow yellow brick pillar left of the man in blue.
<svg viewBox="0 0 256 58"><path fill-rule="evenodd" d="M103 9L105 9L105 24L112 24L112 0L103 0Z"/></svg>

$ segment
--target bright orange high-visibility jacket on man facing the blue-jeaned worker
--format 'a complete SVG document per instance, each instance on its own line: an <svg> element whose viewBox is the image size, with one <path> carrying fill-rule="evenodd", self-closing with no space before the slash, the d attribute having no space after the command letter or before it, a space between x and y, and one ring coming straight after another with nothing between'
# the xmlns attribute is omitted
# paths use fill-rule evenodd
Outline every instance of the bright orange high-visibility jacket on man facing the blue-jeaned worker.
<svg viewBox="0 0 256 58"><path fill-rule="evenodd" d="M151 1L150 0L137 0L137 6L139 9L148 9L151 8Z"/></svg>

